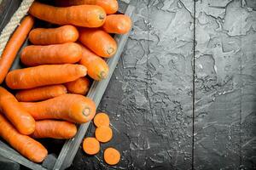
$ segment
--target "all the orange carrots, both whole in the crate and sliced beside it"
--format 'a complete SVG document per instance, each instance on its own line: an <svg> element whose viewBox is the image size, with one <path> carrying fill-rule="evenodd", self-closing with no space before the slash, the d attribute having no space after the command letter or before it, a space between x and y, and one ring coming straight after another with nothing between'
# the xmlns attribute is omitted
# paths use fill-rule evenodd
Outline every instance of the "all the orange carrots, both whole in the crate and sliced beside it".
<svg viewBox="0 0 256 170"><path fill-rule="evenodd" d="M55 0L55 6L35 1L20 22L0 58L0 137L21 155L41 162L47 156L44 145L35 139L71 139L76 124L90 122L96 105L85 97L91 80L108 77L105 59L113 57L117 42L112 34L131 30L131 19L117 14L116 0ZM58 25L33 28L35 18ZM25 68L9 71L18 51ZM112 139L106 114L94 118L96 138L84 139L84 151L100 150L100 142ZM118 163L119 152L108 148L104 159Z"/></svg>

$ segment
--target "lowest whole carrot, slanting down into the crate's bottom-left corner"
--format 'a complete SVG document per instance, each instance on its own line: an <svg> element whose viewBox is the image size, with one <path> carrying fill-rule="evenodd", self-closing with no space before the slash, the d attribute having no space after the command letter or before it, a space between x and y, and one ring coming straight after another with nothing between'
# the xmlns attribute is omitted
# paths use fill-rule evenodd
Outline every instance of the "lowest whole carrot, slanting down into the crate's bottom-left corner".
<svg viewBox="0 0 256 170"><path fill-rule="evenodd" d="M15 127L1 114L0 136L30 161L41 162L47 156L47 150L42 144L26 135L18 133Z"/></svg>

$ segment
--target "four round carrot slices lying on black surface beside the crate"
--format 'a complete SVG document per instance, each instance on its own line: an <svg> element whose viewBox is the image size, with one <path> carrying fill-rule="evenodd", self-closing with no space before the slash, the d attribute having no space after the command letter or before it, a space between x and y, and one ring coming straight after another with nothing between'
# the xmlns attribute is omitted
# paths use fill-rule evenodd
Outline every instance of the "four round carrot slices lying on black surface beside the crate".
<svg viewBox="0 0 256 170"><path fill-rule="evenodd" d="M96 155L100 151L100 143L107 143L113 138L112 129L109 127L109 116L106 113L97 113L93 119L96 126L95 137L87 137L83 142L84 152ZM103 158L108 165L116 165L120 161L119 150L108 147L104 150Z"/></svg>

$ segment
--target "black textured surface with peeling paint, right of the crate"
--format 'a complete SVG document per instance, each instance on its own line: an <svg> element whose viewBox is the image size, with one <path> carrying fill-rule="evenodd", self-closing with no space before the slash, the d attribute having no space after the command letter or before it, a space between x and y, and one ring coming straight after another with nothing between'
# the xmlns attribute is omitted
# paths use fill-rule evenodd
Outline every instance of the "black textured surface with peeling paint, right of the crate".
<svg viewBox="0 0 256 170"><path fill-rule="evenodd" d="M191 169L192 157L195 169L255 169L255 1L195 3L194 141L194 1L133 3L131 37L98 109L113 139L96 156L80 148L70 169ZM121 152L117 166L102 159L108 146Z"/></svg>

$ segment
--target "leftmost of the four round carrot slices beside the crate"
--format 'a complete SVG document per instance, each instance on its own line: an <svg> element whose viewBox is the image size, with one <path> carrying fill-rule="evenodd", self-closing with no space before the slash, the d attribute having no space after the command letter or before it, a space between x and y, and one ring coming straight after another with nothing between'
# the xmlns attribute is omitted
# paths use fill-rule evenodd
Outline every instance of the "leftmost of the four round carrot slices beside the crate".
<svg viewBox="0 0 256 170"><path fill-rule="evenodd" d="M85 138L83 142L83 149L88 155L96 155L100 151L100 143L95 138Z"/></svg>

